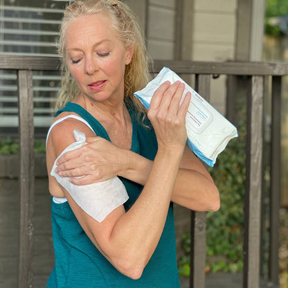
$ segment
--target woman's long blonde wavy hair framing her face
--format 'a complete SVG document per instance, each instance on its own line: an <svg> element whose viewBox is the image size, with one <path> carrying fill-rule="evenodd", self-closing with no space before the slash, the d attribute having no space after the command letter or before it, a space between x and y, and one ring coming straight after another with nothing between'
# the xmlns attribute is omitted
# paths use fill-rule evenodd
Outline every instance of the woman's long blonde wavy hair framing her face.
<svg viewBox="0 0 288 288"><path fill-rule="evenodd" d="M124 95L125 100L129 101L138 112L145 114L145 108L138 98L133 96L133 93L143 89L150 80L149 64L151 60L147 55L144 37L136 15L125 3L118 0L76 0L66 7L58 41L58 53L62 60L62 83L56 108L63 108L67 102L80 94L80 89L66 65L65 32L67 24L81 15L98 13L111 19L111 27L125 48L134 46L132 61L125 68Z"/></svg>

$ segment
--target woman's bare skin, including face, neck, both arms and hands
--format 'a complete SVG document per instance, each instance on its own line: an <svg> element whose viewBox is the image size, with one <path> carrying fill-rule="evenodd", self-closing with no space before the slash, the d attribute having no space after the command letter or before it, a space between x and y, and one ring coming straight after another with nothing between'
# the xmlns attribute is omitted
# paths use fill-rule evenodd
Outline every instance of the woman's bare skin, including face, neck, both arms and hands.
<svg viewBox="0 0 288 288"><path fill-rule="evenodd" d="M144 188L127 213L120 206L101 223L84 213L50 175L49 190L55 197L68 199L82 228L105 258L121 273L138 279L159 242L170 201L194 210L219 208L219 193L213 180L186 147L185 116L190 93L180 107L182 83L165 82L154 93L147 116L159 150L154 161L149 161L129 151L132 122L123 101L124 72L132 59L133 47L123 47L109 18L103 15L86 15L71 21L66 29L66 47L67 65L81 91L73 102L100 121L112 143L97 137L84 123L68 118L51 130L48 171L62 150L75 141L73 129L79 129L90 144L62 156L57 168L61 176L85 174L82 179L71 179L82 185L120 175ZM64 112L57 118L68 114L73 113Z"/></svg>

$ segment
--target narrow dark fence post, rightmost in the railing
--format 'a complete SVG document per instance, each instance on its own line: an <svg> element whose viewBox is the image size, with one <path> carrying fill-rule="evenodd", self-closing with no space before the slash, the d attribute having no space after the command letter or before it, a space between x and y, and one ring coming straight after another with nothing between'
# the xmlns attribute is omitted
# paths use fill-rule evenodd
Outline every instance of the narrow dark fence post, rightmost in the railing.
<svg viewBox="0 0 288 288"><path fill-rule="evenodd" d="M279 210L280 210L280 139L281 139L281 76L272 78L272 125L271 125L271 190L270 190L270 251L269 280L279 283Z"/></svg>

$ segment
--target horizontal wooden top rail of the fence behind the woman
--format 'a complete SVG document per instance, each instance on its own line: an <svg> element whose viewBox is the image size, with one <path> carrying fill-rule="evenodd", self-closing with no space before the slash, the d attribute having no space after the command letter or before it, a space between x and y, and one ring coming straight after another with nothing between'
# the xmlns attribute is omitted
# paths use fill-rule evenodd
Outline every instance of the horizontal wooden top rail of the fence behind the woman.
<svg viewBox="0 0 288 288"><path fill-rule="evenodd" d="M288 75L287 63L270 62L192 62L181 60L154 60L150 71L159 72L163 66L181 74L224 75ZM58 57L0 55L0 69L55 71L60 68Z"/></svg>

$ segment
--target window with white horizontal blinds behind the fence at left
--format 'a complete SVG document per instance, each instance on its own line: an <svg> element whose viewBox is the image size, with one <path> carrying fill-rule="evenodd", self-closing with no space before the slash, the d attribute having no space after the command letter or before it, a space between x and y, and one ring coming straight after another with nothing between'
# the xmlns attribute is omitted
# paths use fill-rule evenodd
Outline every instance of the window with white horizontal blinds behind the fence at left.
<svg viewBox="0 0 288 288"><path fill-rule="evenodd" d="M36 55L57 57L57 36L64 8L72 1L0 0L1 55ZM60 87L60 73L33 73L34 125L50 126L55 98ZM17 75L0 70L0 131L18 127Z"/></svg>

